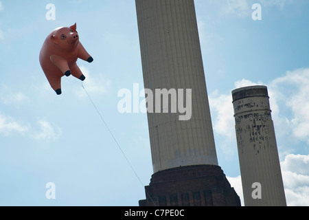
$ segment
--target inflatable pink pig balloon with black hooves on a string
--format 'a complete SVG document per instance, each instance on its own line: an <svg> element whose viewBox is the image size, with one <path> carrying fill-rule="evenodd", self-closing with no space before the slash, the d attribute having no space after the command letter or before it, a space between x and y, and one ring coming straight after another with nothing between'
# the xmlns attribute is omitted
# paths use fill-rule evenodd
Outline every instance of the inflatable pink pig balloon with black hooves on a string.
<svg viewBox="0 0 309 220"><path fill-rule="evenodd" d="M76 64L78 58L89 63L93 61L79 41L76 23L70 28L56 28L47 36L40 52L40 64L57 95L62 93L62 76L72 75L82 81L85 80Z"/></svg>

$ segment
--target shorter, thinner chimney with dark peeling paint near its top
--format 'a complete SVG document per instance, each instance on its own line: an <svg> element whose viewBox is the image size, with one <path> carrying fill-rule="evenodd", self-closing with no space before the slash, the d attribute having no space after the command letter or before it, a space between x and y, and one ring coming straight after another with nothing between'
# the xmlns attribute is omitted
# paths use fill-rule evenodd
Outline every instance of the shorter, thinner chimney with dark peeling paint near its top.
<svg viewBox="0 0 309 220"><path fill-rule="evenodd" d="M245 206L286 206L268 90L232 91Z"/></svg>

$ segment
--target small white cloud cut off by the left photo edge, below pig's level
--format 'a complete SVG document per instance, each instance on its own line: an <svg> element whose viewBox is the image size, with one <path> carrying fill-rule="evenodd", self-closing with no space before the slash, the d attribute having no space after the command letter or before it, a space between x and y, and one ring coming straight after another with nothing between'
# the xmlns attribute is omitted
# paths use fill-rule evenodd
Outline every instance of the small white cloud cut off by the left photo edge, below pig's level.
<svg viewBox="0 0 309 220"><path fill-rule="evenodd" d="M10 116L3 115L0 113L0 134L11 135L12 133L23 134L27 131L27 126L23 126L21 123L16 122Z"/></svg>

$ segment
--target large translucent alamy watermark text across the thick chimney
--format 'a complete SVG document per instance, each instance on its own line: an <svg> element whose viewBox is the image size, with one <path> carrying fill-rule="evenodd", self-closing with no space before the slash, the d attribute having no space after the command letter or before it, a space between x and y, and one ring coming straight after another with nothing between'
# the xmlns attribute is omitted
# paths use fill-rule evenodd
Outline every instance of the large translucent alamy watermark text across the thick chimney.
<svg viewBox="0 0 309 220"><path fill-rule="evenodd" d="M130 89L120 89L117 96L122 98L119 113L179 113L180 121L192 117L192 89L139 90L139 83L134 83L133 94Z"/></svg>

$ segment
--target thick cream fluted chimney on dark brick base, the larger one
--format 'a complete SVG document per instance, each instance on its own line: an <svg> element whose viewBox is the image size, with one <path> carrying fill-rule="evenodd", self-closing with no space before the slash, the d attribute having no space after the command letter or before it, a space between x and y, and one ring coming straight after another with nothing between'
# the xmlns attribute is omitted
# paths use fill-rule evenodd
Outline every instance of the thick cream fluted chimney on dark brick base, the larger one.
<svg viewBox="0 0 309 220"><path fill-rule="evenodd" d="M168 113L148 109L154 175L140 206L240 205L218 166L194 1L136 0L136 8L144 87L156 101L161 97L156 89L167 89L171 99L172 90L178 91L177 102L190 116L180 120L183 114L172 107Z"/></svg>

